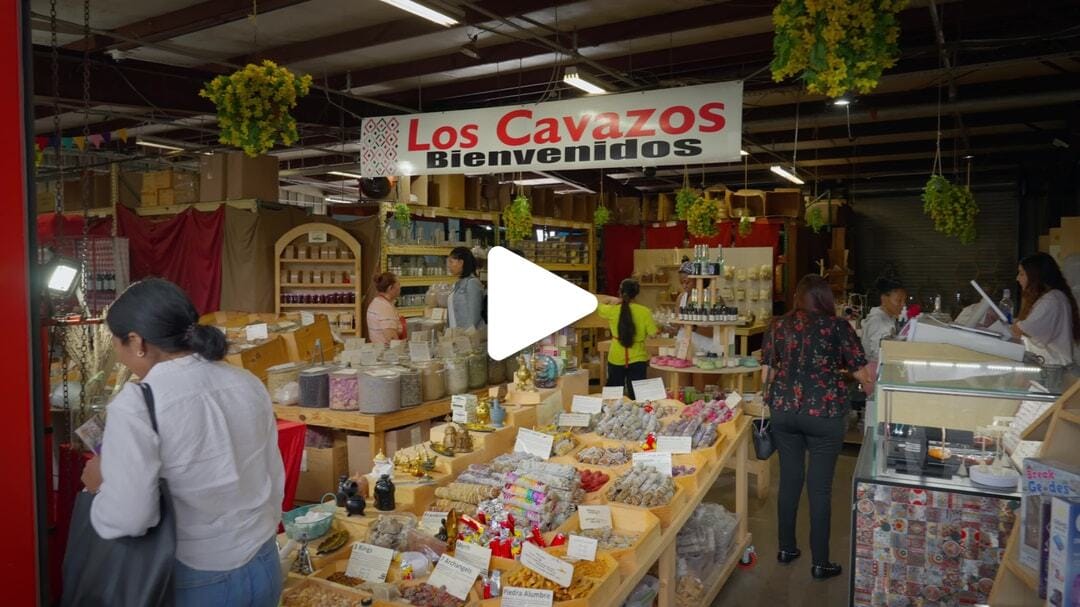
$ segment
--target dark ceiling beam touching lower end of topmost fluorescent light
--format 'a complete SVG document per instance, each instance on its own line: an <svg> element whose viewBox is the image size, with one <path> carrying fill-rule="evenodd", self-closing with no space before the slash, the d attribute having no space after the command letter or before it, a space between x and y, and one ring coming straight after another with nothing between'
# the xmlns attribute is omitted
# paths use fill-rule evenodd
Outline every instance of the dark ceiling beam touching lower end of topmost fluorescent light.
<svg viewBox="0 0 1080 607"><path fill-rule="evenodd" d="M504 17L513 17L544 9L551 9L562 4L570 4L575 0L488 0L492 11ZM378 44L408 40L428 33L446 31L447 28L433 24L427 19L421 19L413 15L405 15L400 19L390 23L366 25L349 31L282 44L271 49L264 49L255 54L240 55L227 59L231 64L247 64L258 59L272 59L280 64L289 65L309 59L316 59L339 53L359 51ZM458 28L467 28L481 23L490 22L490 17L465 9L465 18ZM464 38L462 37L462 43ZM383 76L386 76L383 73Z"/></svg>

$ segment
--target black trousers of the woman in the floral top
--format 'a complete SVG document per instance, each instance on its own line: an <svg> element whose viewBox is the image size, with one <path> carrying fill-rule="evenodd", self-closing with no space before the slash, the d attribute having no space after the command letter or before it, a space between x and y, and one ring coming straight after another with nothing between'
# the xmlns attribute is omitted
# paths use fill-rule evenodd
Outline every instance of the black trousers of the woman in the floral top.
<svg viewBox="0 0 1080 607"><path fill-rule="evenodd" d="M843 447L847 420L840 417L815 417L792 412L774 412L772 437L780 451L780 495L777 503L779 549L798 548L795 518L806 481L810 501L810 551L814 565L828 564L828 536L832 517L833 476L836 458ZM807 451L810 462L807 464Z"/></svg>

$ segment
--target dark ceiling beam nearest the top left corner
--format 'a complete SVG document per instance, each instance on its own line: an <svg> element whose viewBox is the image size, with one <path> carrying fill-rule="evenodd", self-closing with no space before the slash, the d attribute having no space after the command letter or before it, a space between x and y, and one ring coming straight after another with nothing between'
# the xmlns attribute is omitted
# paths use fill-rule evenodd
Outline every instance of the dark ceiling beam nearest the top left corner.
<svg viewBox="0 0 1080 607"><path fill-rule="evenodd" d="M302 4L307 1L258 0L254 5L258 10L258 14L262 15L280 9ZM112 32L120 38L136 39L148 43L161 42L162 40L171 40L187 33L247 18L252 14L252 0L205 0L198 4L130 23L116 28ZM107 35L91 35L90 38L83 38L67 44L65 49L82 51L86 45L89 45L92 53L109 49L127 51L138 46L138 44L118 40Z"/></svg>

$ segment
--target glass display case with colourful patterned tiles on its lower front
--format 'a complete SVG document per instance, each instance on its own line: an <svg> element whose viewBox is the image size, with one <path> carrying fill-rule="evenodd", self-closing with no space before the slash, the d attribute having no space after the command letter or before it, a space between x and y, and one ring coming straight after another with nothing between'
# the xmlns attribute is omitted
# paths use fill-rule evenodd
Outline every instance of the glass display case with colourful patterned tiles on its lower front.
<svg viewBox="0 0 1080 607"><path fill-rule="evenodd" d="M1020 475L988 485L972 471L1012 470L995 418L1055 401L1068 379L1011 362L881 363L853 478L851 605L987 603Z"/></svg>

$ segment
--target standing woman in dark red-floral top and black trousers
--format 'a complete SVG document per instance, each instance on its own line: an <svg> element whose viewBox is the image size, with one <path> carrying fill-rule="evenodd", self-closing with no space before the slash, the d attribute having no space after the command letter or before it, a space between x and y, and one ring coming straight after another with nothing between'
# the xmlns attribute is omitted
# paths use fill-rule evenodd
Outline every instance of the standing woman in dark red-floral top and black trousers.
<svg viewBox="0 0 1080 607"><path fill-rule="evenodd" d="M818 579L839 576L840 565L828 559L828 537L833 475L849 410L845 372L853 373L864 386L873 378L854 329L836 315L825 279L810 274L799 281L795 309L777 319L765 335L761 364L765 402L780 451L777 559L791 563L800 554L795 518L806 481L813 555L810 572Z"/></svg>

